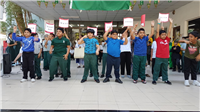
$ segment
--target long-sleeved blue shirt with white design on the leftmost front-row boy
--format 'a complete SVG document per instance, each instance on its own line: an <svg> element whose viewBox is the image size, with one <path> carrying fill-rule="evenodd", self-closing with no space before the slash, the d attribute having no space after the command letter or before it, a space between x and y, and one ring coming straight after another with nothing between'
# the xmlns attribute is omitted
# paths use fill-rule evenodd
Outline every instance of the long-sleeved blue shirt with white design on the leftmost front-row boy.
<svg viewBox="0 0 200 112"><path fill-rule="evenodd" d="M34 37L33 36L31 36L29 38L16 37L16 33L13 33L12 38L15 41L22 41L22 43L23 43L22 51L23 52L34 52ZM39 41L40 41L40 39L38 38L38 41L36 41L36 42L39 42Z"/></svg>

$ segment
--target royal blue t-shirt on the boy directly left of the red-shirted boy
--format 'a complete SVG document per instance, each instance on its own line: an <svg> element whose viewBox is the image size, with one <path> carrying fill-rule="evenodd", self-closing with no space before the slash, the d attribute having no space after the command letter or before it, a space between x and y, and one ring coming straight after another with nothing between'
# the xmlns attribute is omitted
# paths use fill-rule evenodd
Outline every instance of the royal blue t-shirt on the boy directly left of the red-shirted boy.
<svg viewBox="0 0 200 112"><path fill-rule="evenodd" d="M147 42L149 40L148 36L144 36L142 39L135 37L134 42L134 55L146 56L147 55Z"/></svg>

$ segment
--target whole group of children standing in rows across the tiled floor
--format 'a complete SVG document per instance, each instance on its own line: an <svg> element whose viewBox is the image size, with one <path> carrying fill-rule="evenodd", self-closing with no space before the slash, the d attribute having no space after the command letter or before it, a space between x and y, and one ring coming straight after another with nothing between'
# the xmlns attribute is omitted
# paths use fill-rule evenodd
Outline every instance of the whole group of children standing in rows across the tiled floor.
<svg viewBox="0 0 200 112"><path fill-rule="evenodd" d="M99 77L105 77L103 83L109 82L110 78L112 78L111 72L112 67L114 66L115 82L120 84L123 83L120 76L121 78L125 77L126 68L126 75L128 78L133 79L133 83L136 84L139 79L141 79L141 82L146 84L145 67L150 67L151 60L153 75L152 84L156 85L158 78L162 76L162 81L171 85L172 82L168 79L168 62L169 58L171 58L170 61L173 63L173 71L176 71L177 66L178 72L181 72L181 69L184 72L184 84L186 86L190 85L190 72L193 85L200 86L200 83L197 81L197 65L198 61L200 61L199 34L193 31L189 33L187 39L174 40L174 45L170 49L170 35L173 20L170 18L169 21L170 26L168 32L166 32L164 28L160 30L161 21L159 19L157 20L158 23L155 36L154 21L151 22L151 34L148 36L145 34L144 28L136 30L138 24L133 28L127 27L120 39L118 39L118 32L116 30L111 31L110 28L103 35L104 42L101 43L101 46L99 45L98 40L95 39L94 30L88 29L86 31L87 35L82 35L75 45L76 48L85 48L84 59L76 60L78 68L81 66L84 68L81 83L87 81L89 71L90 76L94 76L95 82L100 83ZM45 71L49 70L49 81L53 81L54 76L58 77L59 73L62 74L61 77L64 81L67 81L68 78L71 77L70 58L71 56L73 58L74 48L71 46L70 40L64 29L58 28L56 37L54 34L45 35L45 40L42 42L42 45L39 43L40 39L38 38L38 35L32 34L29 28L24 30L24 36L22 37L16 36L16 30L17 28L14 27L12 35L9 34L9 36L12 40L22 42L20 53L14 60L16 62L21 55L23 57L23 79L21 82L27 81L28 71L30 71L32 82L35 82L35 76L37 76L38 80L42 78L40 70L42 49L44 56L43 69ZM12 44L16 44L13 41L10 41L9 43L9 47L12 47ZM184 44L179 45L179 43ZM181 51L182 55L180 55ZM100 57L100 61L102 56L102 72L101 75L99 75L98 57ZM182 60L181 65L180 59ZM146 64L147 60L148 63Z"/></svg>

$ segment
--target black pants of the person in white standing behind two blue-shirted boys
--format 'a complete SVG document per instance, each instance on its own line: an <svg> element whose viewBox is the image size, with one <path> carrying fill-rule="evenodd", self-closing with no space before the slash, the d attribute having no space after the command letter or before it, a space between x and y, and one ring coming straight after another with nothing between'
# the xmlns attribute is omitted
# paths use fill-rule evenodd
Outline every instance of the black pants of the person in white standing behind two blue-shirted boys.
<svg viewBox="0 0 200 112"><path fill-rule="evenodd" d="M121 75L125 75L124 74L125 65L126 65L126 73L127 75L130 75L131 74L131 52L122 52L120 54L120 58L121 58Z"/></svg>

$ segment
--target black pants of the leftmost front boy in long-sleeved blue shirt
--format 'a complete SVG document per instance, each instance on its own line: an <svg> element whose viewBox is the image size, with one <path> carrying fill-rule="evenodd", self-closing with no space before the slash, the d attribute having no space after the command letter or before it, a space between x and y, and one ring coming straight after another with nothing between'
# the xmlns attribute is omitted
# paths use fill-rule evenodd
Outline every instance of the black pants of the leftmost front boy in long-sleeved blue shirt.
<svg viewBox="0 0 200 112"><path fill-rule="evenodd" d="M23 79L28 78L28 71L30 71L30 78L35 78L34 70L34 53L33 52L23 52Z"/></svg>

